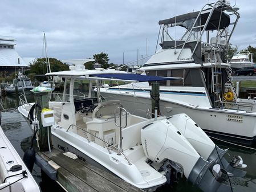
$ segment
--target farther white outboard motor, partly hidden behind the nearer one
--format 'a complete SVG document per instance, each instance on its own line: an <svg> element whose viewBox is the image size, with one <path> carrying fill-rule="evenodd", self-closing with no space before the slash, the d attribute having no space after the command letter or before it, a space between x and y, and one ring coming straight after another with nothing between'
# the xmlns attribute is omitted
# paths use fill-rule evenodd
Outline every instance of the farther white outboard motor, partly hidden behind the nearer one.
<svg viewBox="0 0 256 192"><path fill-rule="evenodd" d="M242 157L234 156L233 160L227 162L224 155L227 149L220 149L214 144L210 137L185 113L173 115L168 118L173 125L186 137L194 149L204 160L214 161L220 164L222 169L232 173L234 177L243 177L246 171L241 170L247 165L243 164ZM237 169L241 168L241 169Z"/></svg>

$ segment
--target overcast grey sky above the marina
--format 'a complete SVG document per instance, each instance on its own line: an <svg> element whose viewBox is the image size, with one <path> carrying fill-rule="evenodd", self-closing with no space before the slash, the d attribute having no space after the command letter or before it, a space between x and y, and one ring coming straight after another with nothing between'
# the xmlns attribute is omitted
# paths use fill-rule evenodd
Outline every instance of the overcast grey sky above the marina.
<svg viewBox="0 0 256 192"><path fill-rule="evenodd" d="M177 4L176 4L177 2ZM22 57L92 58L105 52L109 63L121 64L156 48L159 20L198 11L208 0L2 0L0 35L17 39ZM213 2L213 1L210 1ZM231 0L234 5L235 0ZM177 7L177 9L175 9ZM256 47L255 0L237 0L241 18L231 38L238 50ZM146 40L147 39L147 40Z"/></svg>

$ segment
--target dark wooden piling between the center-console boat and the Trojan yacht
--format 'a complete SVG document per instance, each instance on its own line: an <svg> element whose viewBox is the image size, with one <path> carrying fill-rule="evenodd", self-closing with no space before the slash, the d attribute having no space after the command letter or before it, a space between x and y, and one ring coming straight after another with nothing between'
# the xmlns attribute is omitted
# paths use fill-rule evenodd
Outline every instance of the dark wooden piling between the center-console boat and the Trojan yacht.
<svg viewBox="0 0 256 192"><path fill-rule="evenodd" d="M157 115L160 115L160 84L159 83L152 83L151 84L151 112L152 112L152 118L155 117L155 108L157 108Z"/></svg>

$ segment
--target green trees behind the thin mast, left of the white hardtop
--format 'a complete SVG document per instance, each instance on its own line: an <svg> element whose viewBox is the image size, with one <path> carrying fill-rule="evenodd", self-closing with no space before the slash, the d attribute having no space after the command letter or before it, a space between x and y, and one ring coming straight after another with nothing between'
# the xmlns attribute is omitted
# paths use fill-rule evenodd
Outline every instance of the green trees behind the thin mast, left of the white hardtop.
<svg viewBox="0 0 256 192"><path fill-rule="evenodd" d="M65 71L68 70L68 64L60 62L60 60L55 58L49 58L51 72L55 71ZM49 72L49 71L48 71ZM47 80L47 77L44 74L47 73L46 68L46 58L38 58L35 62L30 64L30 70L26 71L26 74L34 74L36 79L39 81ZM37 76L39 75L39 76Z"/></svg>

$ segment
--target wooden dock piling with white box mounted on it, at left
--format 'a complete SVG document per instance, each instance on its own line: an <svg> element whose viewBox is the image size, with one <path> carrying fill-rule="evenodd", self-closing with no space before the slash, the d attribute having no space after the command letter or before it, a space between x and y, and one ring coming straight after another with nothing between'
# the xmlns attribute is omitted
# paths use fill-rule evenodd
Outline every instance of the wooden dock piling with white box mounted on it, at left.
<svg viewBox="0 0 256 192"><path fill-rule="evenodd" d="M43 127L42 120L41 120L41 112L43 108L49 108L48 103L48 92L35 92L35 103L36 106L36 119L39 122L39 148L41 152L46 152L49 150L48 145L48 132L50 137L50 146L52 148L51 144L51 128L46 126Z"/></svg>

